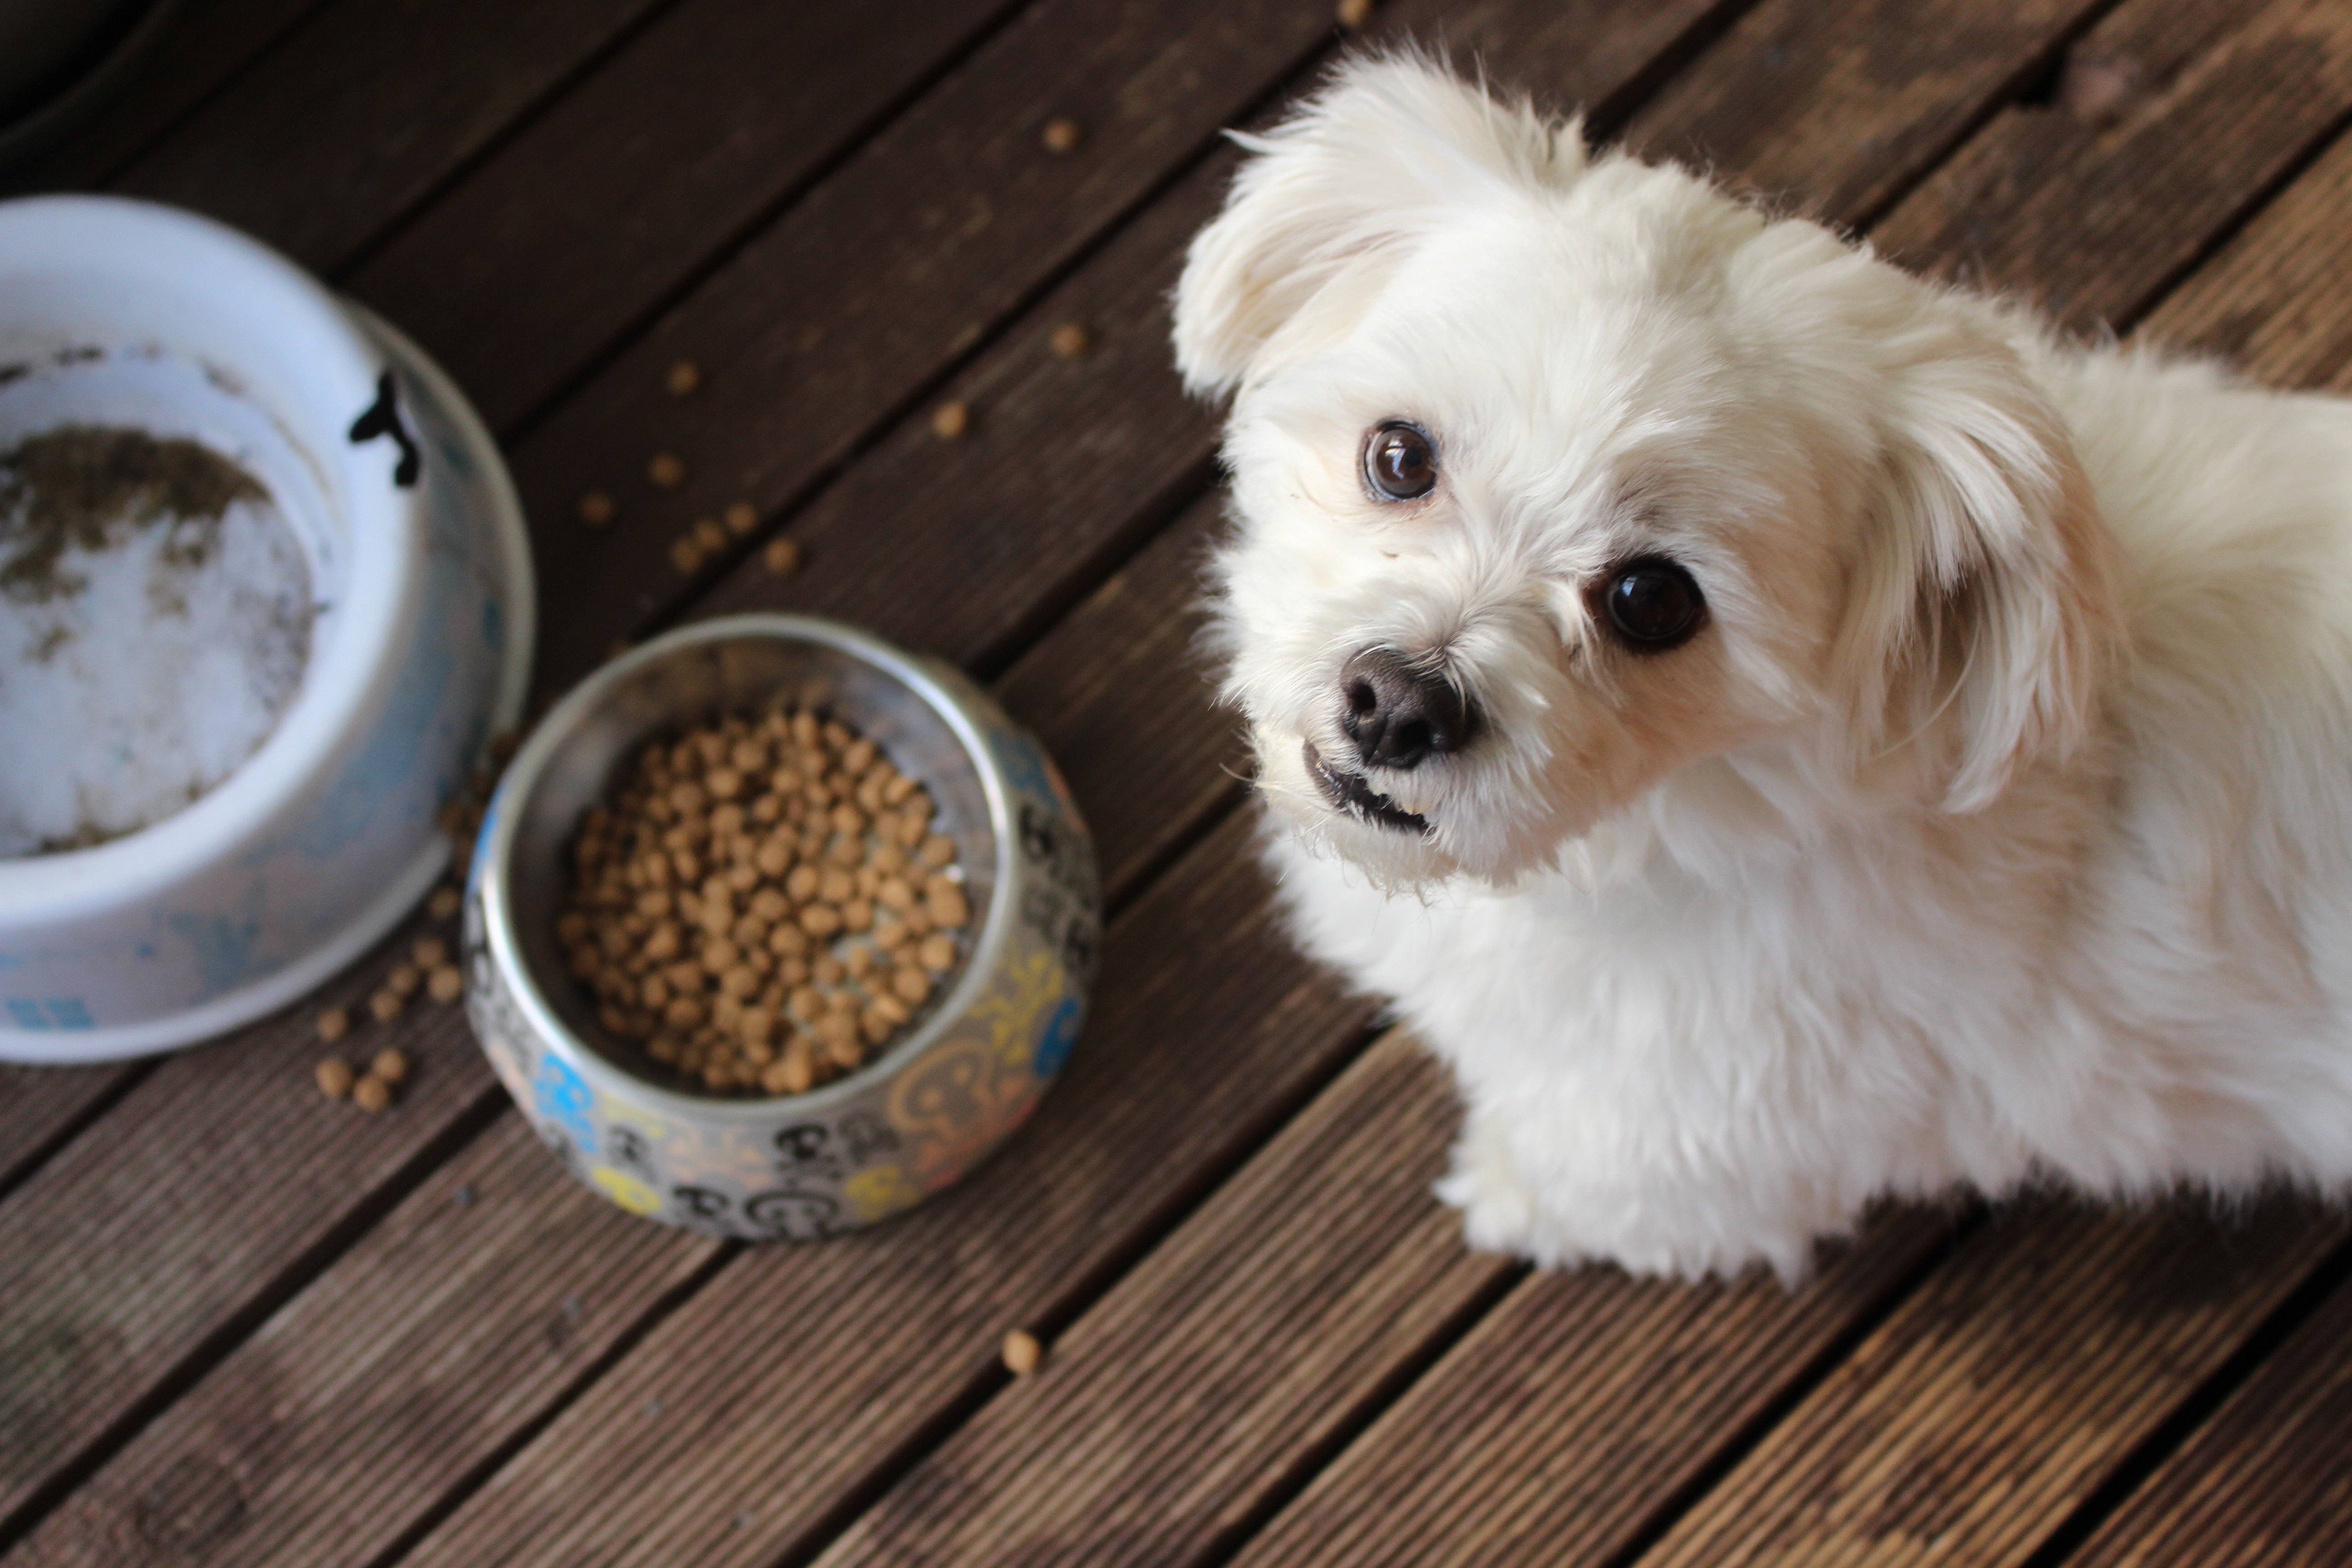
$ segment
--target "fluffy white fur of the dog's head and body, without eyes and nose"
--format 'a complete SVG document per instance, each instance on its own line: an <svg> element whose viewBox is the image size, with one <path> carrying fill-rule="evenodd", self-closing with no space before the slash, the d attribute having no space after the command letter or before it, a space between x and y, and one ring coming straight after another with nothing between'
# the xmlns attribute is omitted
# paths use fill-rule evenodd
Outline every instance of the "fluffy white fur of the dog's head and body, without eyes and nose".
<svg viewBox="0 0 2352 1568"><path fill-rule="evenodd" d="M1783 1276L1882 1192L2352 1175L2352 414L2058 343L1367 59L1192 242L1228 696L1298 938L1456 1070L1543 1262ZM1367 430L1437 489L1374 501ZM1592 611L1670 555L1708 623ZM1359 649L1479 736L1334 809Z"/></svg>

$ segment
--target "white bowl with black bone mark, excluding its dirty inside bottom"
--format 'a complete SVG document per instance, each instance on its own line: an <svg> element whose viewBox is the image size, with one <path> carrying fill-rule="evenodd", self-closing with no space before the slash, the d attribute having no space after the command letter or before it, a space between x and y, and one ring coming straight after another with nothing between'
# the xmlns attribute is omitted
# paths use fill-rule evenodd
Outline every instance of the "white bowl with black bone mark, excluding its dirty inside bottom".
<svg viewBox="0 0 2352 1568"><path fill-rule="evenodd" d="M456 388L219 223L0 202L0 449L73 421L235 456L301 536L318 616L301 689L221 785L127 837L0 860L16 1063L221 1034L383 936L447 865L435 818L520 717L534 635L522 510Z"/></svg>

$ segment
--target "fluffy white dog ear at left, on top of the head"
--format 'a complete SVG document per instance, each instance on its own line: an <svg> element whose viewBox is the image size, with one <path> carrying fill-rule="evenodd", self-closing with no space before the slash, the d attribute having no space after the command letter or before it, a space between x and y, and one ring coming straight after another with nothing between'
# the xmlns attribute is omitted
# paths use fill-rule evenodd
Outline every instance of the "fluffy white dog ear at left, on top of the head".
<svg viewBox="0 0 2352 1568"><path fill-rule="evenodd" d="M1585 167L1576 122L1498 103L1411 52L1343 63L1279 127L1232 139L1254 158L1176 284L1176 369L1197 395L1232 390L1341 273L1435 230L1479 186L1557 186Z"/></svg>

